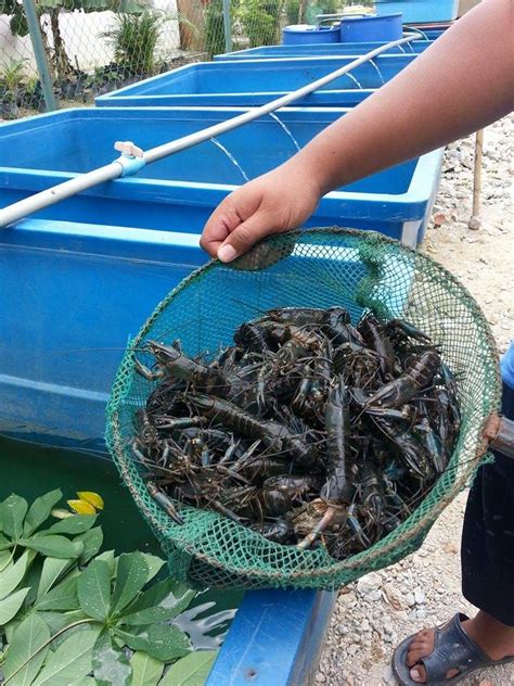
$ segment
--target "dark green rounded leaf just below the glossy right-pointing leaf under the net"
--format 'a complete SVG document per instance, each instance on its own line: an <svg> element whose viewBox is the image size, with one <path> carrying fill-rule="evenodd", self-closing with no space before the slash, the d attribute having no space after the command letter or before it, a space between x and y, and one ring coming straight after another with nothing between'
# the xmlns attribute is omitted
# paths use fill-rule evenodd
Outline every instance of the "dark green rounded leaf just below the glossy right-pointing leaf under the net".
<svg viewBox="0 0 514 686"><path fill-rule="evenodd" d="M138 634L114 630L132 650L143 650L157 660L169 662L191 652L189 636L172 624L155 624Z"/></svg>

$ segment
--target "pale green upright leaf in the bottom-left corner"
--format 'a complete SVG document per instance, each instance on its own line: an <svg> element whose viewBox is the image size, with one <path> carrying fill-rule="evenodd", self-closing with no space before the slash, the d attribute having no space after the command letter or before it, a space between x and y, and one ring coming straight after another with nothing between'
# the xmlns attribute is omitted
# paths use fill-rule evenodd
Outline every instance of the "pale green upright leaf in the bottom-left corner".
<svg viewBox="0 0 514 686"><path fill-rule="evenodd" d="M37 613L24 619L14 632L3 665L3 676L10 679L9 686L28 686L33 683L49 650L48 646L42 649L41 646L49 639L50 631ZM34 657L27 662L31 656Z"/></svg>

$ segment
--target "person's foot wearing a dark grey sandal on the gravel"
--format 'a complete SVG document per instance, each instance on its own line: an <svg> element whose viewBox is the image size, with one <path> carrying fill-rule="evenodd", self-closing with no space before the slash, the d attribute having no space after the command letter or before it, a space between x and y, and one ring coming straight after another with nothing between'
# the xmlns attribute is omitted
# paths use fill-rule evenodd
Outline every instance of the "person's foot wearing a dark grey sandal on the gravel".
<svg viewBox="0 0 514 686"><path fill-rule="evenodd" d="M457 684L475 670L514 662L514 626L485 612L455 614L447 624L406 638L393 670L401 686Z"/></svg>

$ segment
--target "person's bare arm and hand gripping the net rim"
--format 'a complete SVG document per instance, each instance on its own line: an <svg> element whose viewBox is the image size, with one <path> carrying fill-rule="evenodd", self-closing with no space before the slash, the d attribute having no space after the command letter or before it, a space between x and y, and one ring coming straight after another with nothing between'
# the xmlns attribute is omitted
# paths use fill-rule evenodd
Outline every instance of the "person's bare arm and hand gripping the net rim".
<svg viewBox="0 0 514 686"><path fill-rule="evenodd" d="M513 36L512 0L484 0L294 157L231 193L207 221L202 246L229 262L266 236L300 226L329 191L509 113Z"/></svg>

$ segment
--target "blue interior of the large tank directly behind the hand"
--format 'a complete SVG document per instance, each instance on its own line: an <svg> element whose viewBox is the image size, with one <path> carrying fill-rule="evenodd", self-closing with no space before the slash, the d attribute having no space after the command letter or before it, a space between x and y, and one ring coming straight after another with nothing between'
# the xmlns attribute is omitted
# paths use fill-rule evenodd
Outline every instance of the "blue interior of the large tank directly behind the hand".
<svg viewBox="0 0 514 686"><path fill-rule="evenodd" d="M0 169L8 175L14 169L37 170L42 178L46 177L44 172L81 174L112 162L117 156L113 150L116 140L132 140L143 150L149 150L235 114L209 110L72 110L36 117L0 128ZM304 147L342 114L342 111L303 110L296 113L281 111L277 116ZM34 145L35 135L51 141L51 144ZM219 140L239 161L248 178L274 168L296 152L292 138L269 116L224 134ZM415 160L397 165L340 190L401 194L409 189L415 165ZM241 170L211 141L149 165L131 179L131 183L138 183L139 179L220 185L241 185L244 181ZM16 187L16 183L13 180L5 186ZM2 196L0 191L0 203Z"/></svg>

